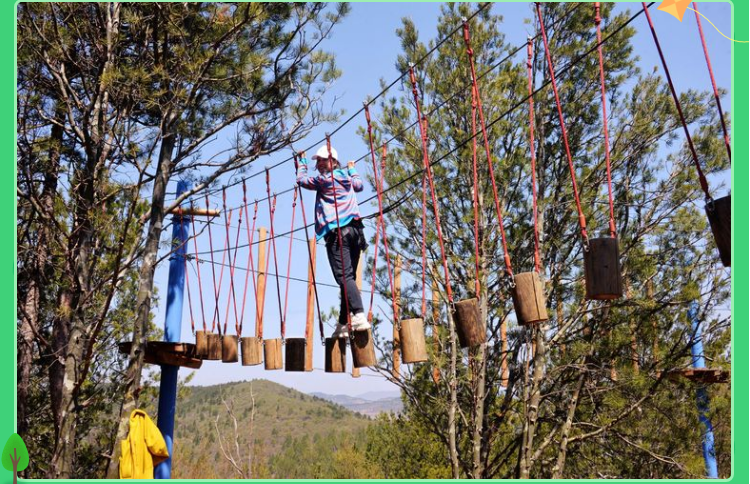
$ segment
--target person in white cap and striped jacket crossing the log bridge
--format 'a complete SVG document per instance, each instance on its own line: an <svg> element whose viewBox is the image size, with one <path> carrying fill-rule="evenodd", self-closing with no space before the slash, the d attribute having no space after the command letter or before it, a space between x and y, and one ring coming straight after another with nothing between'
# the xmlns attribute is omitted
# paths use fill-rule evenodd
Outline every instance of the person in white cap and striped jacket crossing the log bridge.
<svg viewBox="0 0 750 484"><path fill-rule="evenodd" d="M315 190L315 235L317 240L325 240L328 262L336 283L341 288L341 309L339 322L333 337L346 338L349 336L347 327L347 308L351 313L352 330L366 331L370 323L364 313L362 296L356 282L356 268L359 264L360 253L367 249L364 225L360 219L359 204L355 192L364 188L350 161L346 169L339 165L338 152L327 145L321 146L313 156L318 176L309 176L307 172L308 160L305 152L300 153L297 183L302 188ZM331 179L333 171L333 179ZM336 210L338 209L338 217ZM338 219L338 220L337 220ZM343 250L339 246L339 234ZM343 260L342 260L343 256ZM343 276L343 278L342 278ZM348 305L347 305L348 301Z"/></svg>

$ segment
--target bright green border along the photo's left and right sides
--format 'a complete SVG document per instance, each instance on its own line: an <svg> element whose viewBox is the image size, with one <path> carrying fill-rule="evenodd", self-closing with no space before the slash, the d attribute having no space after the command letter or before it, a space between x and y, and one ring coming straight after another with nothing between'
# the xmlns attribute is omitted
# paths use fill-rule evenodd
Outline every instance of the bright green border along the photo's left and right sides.
<svg viewBox="0 0 750 484"><path fill-rule="evenodd" d="M419 1L419 0L416 0ZM703 2L711 0L702 0ZM732 7L732 36L737 39L750 39L749 28L750 23L746 21L748 19L748 2L739 0L726 0ZM15 154L15 112L16 112L16 100L15 100L15 63L16 63L16 49L15 49L15 18L18 3L13 5L13 12L8 17L0 20L3 28L0 29L0 38L2 38L3 45L13 47L13 69L12 77L14 82L14 95L3 98L0 101L4 106L3 110L7 113L13 112L14 119L4 118L4 121L8 122L8 125L3 123L3 146L8 151L14 151ZM500 3L500 2L498 2ZM623 2L623 3L635 3L635 2ZM10 4L3 7L10 10ZM663 13L662 13L663 14ZM662 15L657 14L657 15ZM739 19L739 21L736 21ZM748 240L748 143L749 132L748 132L748 106L750 100L748 99L750 94L750 73L748 66L748 45L732 43L732 99L731 99L731 113L732 113L732 150L734 152L735 160L745 160L739 165L735 163L732 167L732 201L733 201L733 246L738 246L734 241ZM10 55L9 55L10 57ZM10 67L10 59L8 60ZM11 77L11 69L8 69L8 77ZM9 80L10 82L10 80ZM7 108L7 110L5 109ZM7 130L7 131L6 131ZM7 144L6 144L7 143ZM15 156L14 156L15 158ZM10 187L11 184L15 185L15 164L13 165L13 178L10 177L10 169L7 168L10 165L5 165L8 169L8 178L0 179L0 187L8 184L8 191L13 189ZM737 180L737 183L735 183ZM16 199L14 197L11 204L16 207ZM8 239L0 239L0 251L13 254L13 259L16 259L16 230L15 220L11 220L8 216L8 220L5 220L5 216L0 215L4 222L2 225L7 227L6 230L9 232L12 230L12 234L9 234ZM741 221L739 225L736 221ZM11 229L11 227L13 227ZM12 242L11 242L12 241ZM12 245L11 245L12 244ZM742 245L742 250L733 251L732 255L734 271L732 273L732 318L733 321L739 322L739 324L732 325L732 476L725 480L726 482L741 482L746 483L750 480L750 474L748 473L749 462L746 456L748 455L748 304L744 297L734 297L734 295L748 294L748 252L745 252L746 245ZM736 272L736 274L735 274ZM0 301L3 303L3 307L6 307L8 315L14 312L12 320L15 322L15 310L16 310L16 272L14 270L13 285L11 286L10 280L2 278L0 279ZM734 277L734 276L737 277ZM12 295L12 296L11 296ZM12 306L5 306L5 304L11 304ZM738 304L735 304L738 303ZM16 386L16 325L6 323L3 325L2 332L5 334L3 338L0 338L0 368L4 371L0 372L0 388L2 388L3 394L8 395L0 398L0 444L3 444L7 439L7 436L14 433L16 430L16 399L15 399L15 386ZM739 345L736 343L739 342ZM739 351L736 351L739 350ZM8 393L5 393L8 392ZM696 450L697 452L697 450ZM743 457L740 459L739 457ZM33 460L33 456L31 456ZM0 484L5 482L11 482L12 477L9 472L5 469L0 469ZM20 480L20 479L19 479ZM42 482L43 480L39 480ZM598 480L597 480L598 481ZM642 481L635 479L628 479L628 481ZM665 482L685 482L681 480L669 480ZM690 480L693 481L693 480ZM77 480L61 480L59 482L77 482ZM193 482L191 480L180 480L180 482ZM216 481L213 481L216 482ZM269 481L270 482L270 481ZM603 482L603 481L601 481Z"/></svg>

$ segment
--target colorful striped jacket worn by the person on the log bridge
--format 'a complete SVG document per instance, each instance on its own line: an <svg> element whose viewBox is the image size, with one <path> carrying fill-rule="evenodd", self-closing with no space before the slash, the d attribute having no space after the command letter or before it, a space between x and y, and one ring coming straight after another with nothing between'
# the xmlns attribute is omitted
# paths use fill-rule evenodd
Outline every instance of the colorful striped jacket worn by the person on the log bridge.
<svg viewBox="0 0 750 484"><path fill-rule="evenodd" d="M355 168L338 168L333 171L335 178L336 203L338 205L339 221L336 224L336 207L334 206L334 190L331 174L308 176L307 158L300 160L297 171L297 183L302 188L315 190L315 235L317 240L338 226L345 227L352 220L358 220L359 204L355 192L364 189L362 178Z"/></svg>

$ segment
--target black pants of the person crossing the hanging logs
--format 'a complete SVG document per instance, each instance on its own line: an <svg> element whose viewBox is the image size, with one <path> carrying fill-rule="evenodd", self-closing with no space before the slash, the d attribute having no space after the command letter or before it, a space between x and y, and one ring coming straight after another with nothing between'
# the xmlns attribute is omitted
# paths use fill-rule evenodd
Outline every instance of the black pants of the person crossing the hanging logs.
<svg viewBox="0 0 750 484"><path fill-rule="evenodd" d="M339 311L339 324L347 324L347 304L349 312L357 314L364 312L362 296L357 288L357 266L359 256L367 249L365 241L364 226L359 220L352 221L341 230L341 242L343 244L344 260L341 260L342 250L339 247L338 230L326 234L326 252L328 252L328 263L331 264L333 277L336 284L341 288L341 309ZM344 297L344 284L346 284L346 298Z"/></svg>

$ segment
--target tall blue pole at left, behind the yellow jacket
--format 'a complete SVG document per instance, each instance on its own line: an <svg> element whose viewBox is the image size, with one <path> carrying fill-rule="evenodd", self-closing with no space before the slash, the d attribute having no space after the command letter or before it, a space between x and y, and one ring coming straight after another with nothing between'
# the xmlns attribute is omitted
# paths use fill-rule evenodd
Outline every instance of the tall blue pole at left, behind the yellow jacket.
<svg viewBox="0 0 750 484"><path fill-rule="evenodd" d="M177 196L190 189L185 180L177 182ZM189 207L186 202L183 207ZM169 258L169 281L167 283L167 314L164 318L164 341L177 343L180 341L182 328L182 299L185 290L185 257L187 254L186 241L190 228L190 219L179 214L172 216L172 248L174 252ZM177 372L180 368L172 365L162 365L161 382L159 384L159 417L156 425L159 427L169 450L169 458L154 469L156 479L172 477L172 449L174 448L174 415L177 403Z"/></svg>

